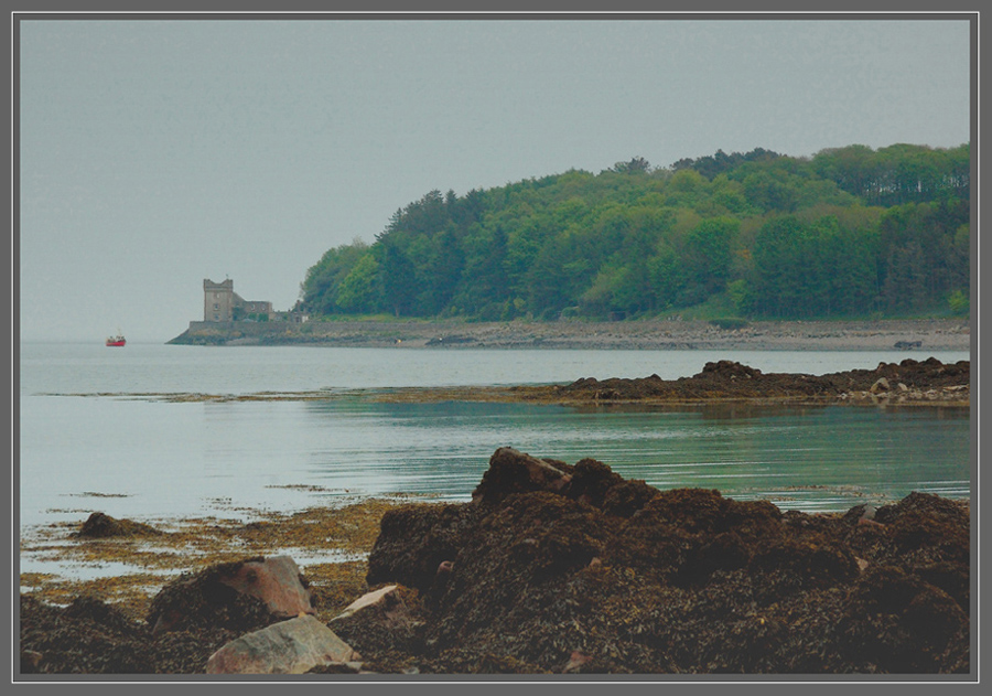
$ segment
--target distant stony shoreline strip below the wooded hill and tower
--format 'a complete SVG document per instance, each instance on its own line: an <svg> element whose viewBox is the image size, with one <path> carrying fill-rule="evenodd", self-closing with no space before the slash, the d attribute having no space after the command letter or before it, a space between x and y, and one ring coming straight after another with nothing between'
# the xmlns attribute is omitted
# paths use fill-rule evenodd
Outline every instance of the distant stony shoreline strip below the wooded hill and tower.
<svg viewBox="0 0 992 696"><path fill-rule="evenodd" d="M966 319L194 322L169 343L396 349L967 351L971 333Z"/></svg>

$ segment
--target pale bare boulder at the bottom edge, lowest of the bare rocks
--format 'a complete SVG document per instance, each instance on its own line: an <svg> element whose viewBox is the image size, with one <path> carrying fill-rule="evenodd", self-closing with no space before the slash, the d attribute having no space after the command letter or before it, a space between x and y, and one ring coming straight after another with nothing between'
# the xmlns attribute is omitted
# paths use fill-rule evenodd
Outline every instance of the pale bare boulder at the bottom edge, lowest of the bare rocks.
<svg viewBox="0 0 992 696"><path fill-rule="evenodd" d="M273 623L224 645L207 661L207 674L303 674L319 665L360 660L351 645L315 618Z"/></svg>

